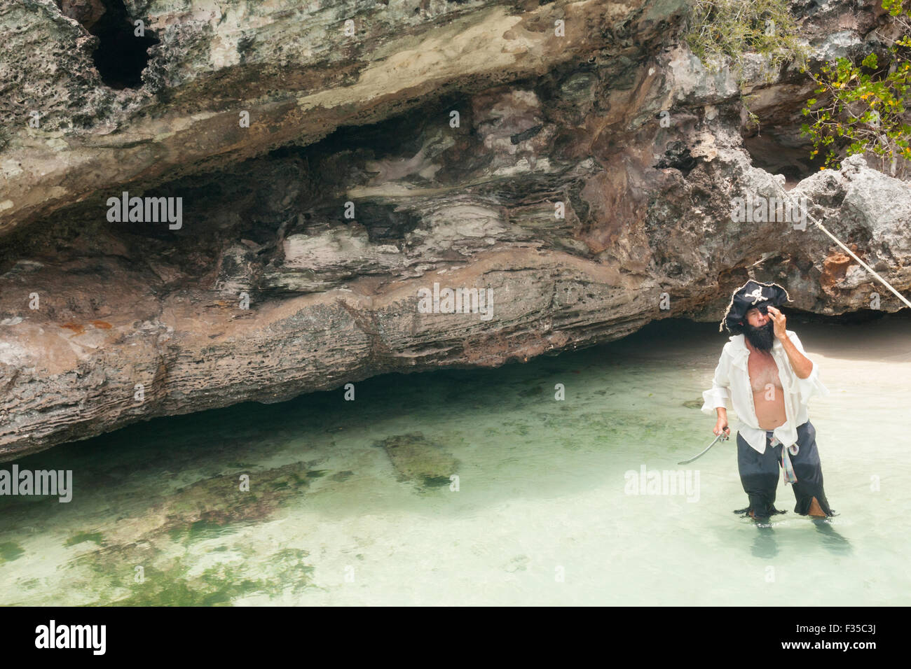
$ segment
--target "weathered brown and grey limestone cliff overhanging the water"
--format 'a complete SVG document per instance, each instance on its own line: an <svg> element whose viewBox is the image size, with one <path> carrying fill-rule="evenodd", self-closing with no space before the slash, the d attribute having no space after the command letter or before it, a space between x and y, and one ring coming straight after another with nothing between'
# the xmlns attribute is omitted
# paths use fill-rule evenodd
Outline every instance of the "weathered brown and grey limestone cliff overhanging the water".
<svg viewBox="0 0 911 669"><path fill-rule="evenodd" d="M795 5L819 59L882 20L873 2ZM730 73L681 44L684 14L0 0L0 459L715 319L749 276L807 311L872 292L898 309L812 226L732 220L736 198L805 197L911 287L906 182L857 158L814 173L798 132L812 86L793 70L766 78L757 59L763 125L744 127ZM147 42L126 56L136 21ZM125 191L180 198L179 224L110 220ZM419 309L435 284L489 289L492 318Z"/></svg>

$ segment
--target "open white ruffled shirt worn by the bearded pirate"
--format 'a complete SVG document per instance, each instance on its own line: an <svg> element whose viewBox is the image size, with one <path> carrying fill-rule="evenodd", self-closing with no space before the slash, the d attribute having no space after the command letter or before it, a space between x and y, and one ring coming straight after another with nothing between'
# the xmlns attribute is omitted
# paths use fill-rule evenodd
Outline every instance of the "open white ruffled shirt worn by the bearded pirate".
<svg viewBox="0 0 911 669"><path fill-rule="evenodd" d="M801 353L804 346L797 335L790 329L784 330L788 339ZM746 348L745 337L742 334L734 335L722 349L721 360L715 368L715 376L711 381L711 390L702 393L703 413L712 415L718 407L726 407L726 400L730 399L734 413L741 422L738 428L743 439L753 449L760 453L765 452L765 431L759 427L756 419L756 409L752 400L752 386L750 385L750 371L747 360L750 350ZM784 414L786 421L773 430L774 436L786 446L797 442L797 426L809 420L807 402L814 395L826 396L829 390L819 380L819 366L813 362L813 370L806 379L800 379L791 367L791 360L784 350L781 341L775 338L772 345L772 356L778 366L778 378L782 382L784 393Z"/></svg>

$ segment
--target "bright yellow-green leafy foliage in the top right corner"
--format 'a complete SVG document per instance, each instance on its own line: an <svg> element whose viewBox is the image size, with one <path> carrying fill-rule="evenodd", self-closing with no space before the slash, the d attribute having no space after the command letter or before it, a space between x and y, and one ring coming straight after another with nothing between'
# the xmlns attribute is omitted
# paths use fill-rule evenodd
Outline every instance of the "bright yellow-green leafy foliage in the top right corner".
<svg viewBox="0 0 911 669"><path fill-rule="evenodd" d="M814 143L811 157L825 151L824 166L841 167L840 154L873 154L893 176L907 173L911 160L911 126L906 122L911 93L911 9L908 0L883 0L904 35L890 39L885 62L871 53L859 64L838 58L809 72L817 87L806 101L802 131ZM846 145L846 148L844 148Z"/></svg>

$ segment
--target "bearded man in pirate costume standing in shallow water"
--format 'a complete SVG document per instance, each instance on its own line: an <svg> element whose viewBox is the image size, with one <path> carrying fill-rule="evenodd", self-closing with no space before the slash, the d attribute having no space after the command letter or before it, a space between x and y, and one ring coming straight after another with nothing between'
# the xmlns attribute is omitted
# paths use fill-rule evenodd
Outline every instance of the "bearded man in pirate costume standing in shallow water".
<svg viewBox="0 0 911 669"><path fill-rule="evenodd" d="M778 470L793 488L794 512L814 518L834 515L823 491L816 431L807 402L829 390L818 366L804 354L797 335L784 329L777 308L792 301L775 283L749 280L735 290L719 331L732 334L715 369L711 390L702 393L702 412L718 415L714 433L730 432L725 400L740 419L737 469L749 506L736 511L767 522L775 509Z"/></svg>

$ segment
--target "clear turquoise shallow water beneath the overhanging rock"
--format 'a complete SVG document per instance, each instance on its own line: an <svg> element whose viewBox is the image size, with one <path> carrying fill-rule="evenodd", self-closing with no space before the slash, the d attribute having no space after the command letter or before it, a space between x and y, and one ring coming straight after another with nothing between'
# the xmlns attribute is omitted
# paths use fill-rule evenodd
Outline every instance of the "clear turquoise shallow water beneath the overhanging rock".
<svg viewBox="0 0 911 669"><path fill-rule="evenodd" d="M711 441L701 390L726 339L663 321L18 461L72 470L75 491L0 498L0 603L906 605L909 323L789 324L832 392L810 406L830 522L795 516L782 481L771 529L734 515L733 440L676 464ZM643 467L691 489L632 494Z"/></svg>

